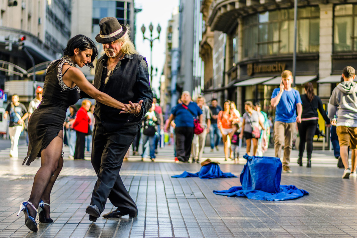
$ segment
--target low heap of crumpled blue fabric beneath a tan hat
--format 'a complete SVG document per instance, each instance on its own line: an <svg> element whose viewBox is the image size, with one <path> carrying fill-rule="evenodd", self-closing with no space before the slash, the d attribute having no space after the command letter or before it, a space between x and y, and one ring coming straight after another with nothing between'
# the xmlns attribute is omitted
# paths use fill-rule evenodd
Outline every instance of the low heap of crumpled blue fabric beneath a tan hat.
<svg viewBox="0 0 357 238"><path fill-rule="evenodd" d="M209 163L201 167L200 172L197 173L190 173L190 172L183 172L180 175L171 176L173 178L186 178L186 177L200 177L200 178L232 178L235 176L232 173L223 173L218 166L217 163Z"/></svg>

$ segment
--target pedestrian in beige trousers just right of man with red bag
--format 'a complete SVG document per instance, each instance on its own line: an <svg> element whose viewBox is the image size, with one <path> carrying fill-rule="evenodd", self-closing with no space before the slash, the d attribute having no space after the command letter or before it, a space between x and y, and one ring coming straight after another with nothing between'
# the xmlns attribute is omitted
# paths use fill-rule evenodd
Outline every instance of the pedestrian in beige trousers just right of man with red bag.
<svg viewBox="0 0 357 238"><path fill-rule="evenodd" d="M201 95L197 96L196 103L198 107L200 107L202 110L202 115L203 115L202 126L204 129L202 133L198 135L193 135L192 163L194 162L199 163L199 161L201 160L203 149L205 148L205 144L206 144L206 136L207 133L210 132L211 112L210 112L210 108L205 105L205 102L206 100L203 96Z"/></svg>

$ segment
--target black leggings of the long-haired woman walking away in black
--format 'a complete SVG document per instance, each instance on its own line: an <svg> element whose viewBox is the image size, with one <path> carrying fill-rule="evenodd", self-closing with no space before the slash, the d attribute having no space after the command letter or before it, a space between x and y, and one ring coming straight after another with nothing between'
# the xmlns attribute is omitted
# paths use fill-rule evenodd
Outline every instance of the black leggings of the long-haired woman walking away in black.
<svg viewBox="0 0 357 238"><path fill-rule="evenodd" d="M311 158L312 154L312 140L315 135L317 126L317 120L302 121L297 123L297 128L300 135L300 145L299 145L299 158L302 158L302 154L305 151L305 143L307 150L307 158Z"/></svg>

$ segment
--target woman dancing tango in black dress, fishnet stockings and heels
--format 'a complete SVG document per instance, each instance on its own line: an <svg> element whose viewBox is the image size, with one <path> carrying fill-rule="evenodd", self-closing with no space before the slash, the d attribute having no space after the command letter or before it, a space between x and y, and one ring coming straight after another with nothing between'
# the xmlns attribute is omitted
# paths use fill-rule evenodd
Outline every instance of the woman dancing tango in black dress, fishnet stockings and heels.
<svg viewBox="0 0 357 238"><path fill-rule="evenodd" d="M97 46L91 39L76 35L68 41L63 53L61 59L52 61L47 67L42 101L29 120L29 148L22 163L30 165L36 157L41 157L41 167L35 175L30 198L20 204L17 214L24 211L25 225L34 232L37 231L37 213L40 222L53 222L50 218L50 194L63 166L62 138L67 108L79 100L80 90L108 106L125 106L97 90L75 67L87 65L94 68L91 62L97 56Z"/></svg>

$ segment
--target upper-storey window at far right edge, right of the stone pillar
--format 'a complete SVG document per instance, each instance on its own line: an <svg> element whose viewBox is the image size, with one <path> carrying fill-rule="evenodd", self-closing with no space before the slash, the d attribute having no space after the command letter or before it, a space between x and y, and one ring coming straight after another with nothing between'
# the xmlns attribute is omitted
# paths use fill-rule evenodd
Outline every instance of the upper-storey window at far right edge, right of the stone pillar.
<svg viewBox="0 0 357 238"><path fill-rule="evenodd" d="M357 51L357 4L335 5L333 51Z"/></svg>

